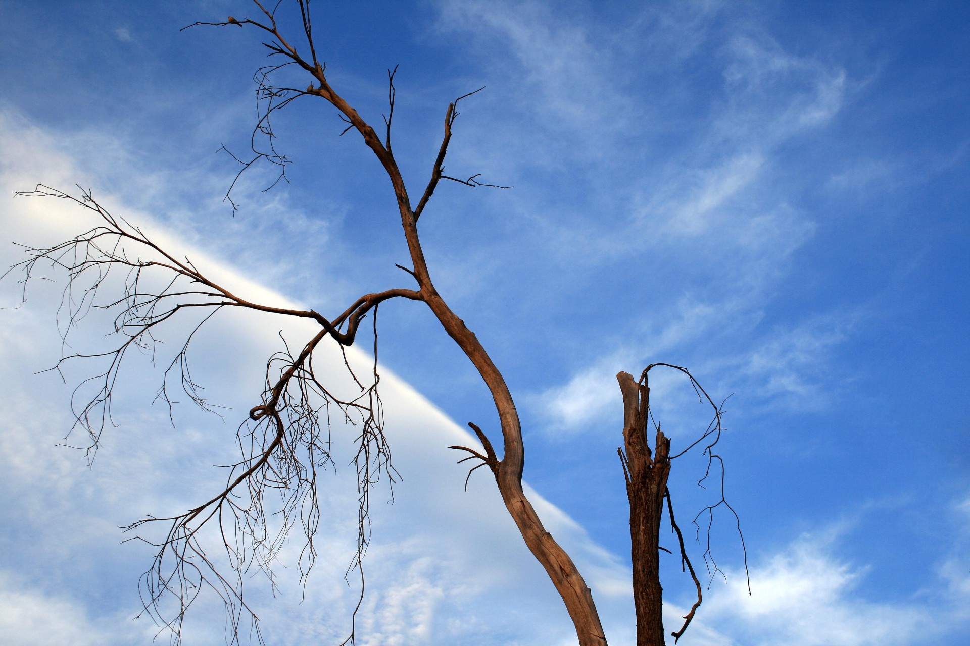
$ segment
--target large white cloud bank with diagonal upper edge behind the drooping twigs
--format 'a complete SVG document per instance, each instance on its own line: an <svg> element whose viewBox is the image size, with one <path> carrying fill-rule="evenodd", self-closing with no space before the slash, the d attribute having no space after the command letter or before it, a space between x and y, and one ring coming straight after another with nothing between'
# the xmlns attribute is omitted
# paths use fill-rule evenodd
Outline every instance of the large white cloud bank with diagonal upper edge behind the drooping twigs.
<svg viewBox="0 0 970 646"><path fill-rule="evenodd" d="M38 168L48 170L47 181L52 184L64 185L76 176L70 159L45 146L45 137L36 130L18 129L8 121L0 140L14 152L15 141L31 144L22 145L23 157L12 154L0 171L0 186L8 196L21 188L25 174ZM4 230L14 231L23 241L63 239L81 224L76 208L66 200L4 200L0 216ZM153 224L145 213L132 212L110 196L106 201L113 204L115 215L139 222L164 245L186 249L177 236ZM204 253L190 249L186 253L249 297L287 302ZM16 249L4 248L0 260L17 260ZM4 303L16 302L16 285L6 281L3 288ZM70 387L58 385L51 374L30 376L57 357L59 341L51 305L59 287L42 283L28 295L26 305L2 313L0 337L0 355L7 367L0 382L16 404L0 431L4 448L0 489L9 528L0 534L0 545L13 555L8 564L12 576L31 575L25 588L4 593L13 608L4 621L16 625L8 634L26 634L47 607L63 612L66 625L87 630L84 622L104 624L107 628L91 643L131 643L119 627L139 609L136 581L146 568L148 552L138 543L117 545L123 538L117 526L146 513L188 508L218 486L221 475L209 465L225 463L234 451L235 423L261 389L262 364L279 349L277 330L282 326L288 338L301 338L307 328L265 317L211 322L195 358L210 400L231 407L225 412L226 423L179 407L178 426L172 428L165 410L146 408L159 373L147 360L133 361L118 386L115 419L119 425L107 429L95 466L88 471L80 455L52 446L70 426L66 410ZM184 333L184 328L176 325L168 334L178 337L179 332ZM81 327L75 343L83 346L97 338L97 330ZM333 348L321 351L320 366L339 366L335 352ZM369 361L357 352L350 358L360 366ZM368 604L358 621L361 642L486 644L501 634L522 644L569 643L571 628L562 601L515 530L495 485L479 472L469 493L462 490L466 467L455 464L454 451L447 446L473 444L469 434L387 370L382 371L381 385L387 432L404 481L397 487L393 506L382 505L380 494L372 502L374 536L366 562ZM280 571L279 600L272 599L258 578L247 583L271 641L272 635L279 634L294 643L306 643L314 636L339 637L349 628L347 617L356 593L342 576L352 553L356 492L353 478L346 478L348 439L341 430L335 428L333 449L338 473L324 475L321 482L327 535L318 544L321 564L307 585L306 601L299 603L299 587L293 573L285 569ZM547 530L592 572L590 584L597 594L607 599L619 594L626 569L565 513L534 492L532 497ZM296 544L288 546L282 554L284 563L292 566L298 549ZM48 600L41 591L52 586L76 595L77 600ZM187 632L203 640L220 638L218 604L204 599L194 610ZM625 614L622 603L619 610L605 603L604 621L627 624ZM469 620L456 623L456 617ZM152 627L143 620L137 629L151 631ZM41 634L56 637L55 632Z"/></svg>

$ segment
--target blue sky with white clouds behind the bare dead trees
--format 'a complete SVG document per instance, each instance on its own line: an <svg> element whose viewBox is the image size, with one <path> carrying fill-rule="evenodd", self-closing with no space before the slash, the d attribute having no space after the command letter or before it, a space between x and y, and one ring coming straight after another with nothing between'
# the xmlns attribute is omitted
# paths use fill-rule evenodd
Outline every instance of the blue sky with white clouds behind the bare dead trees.
<svg viewBox="0 0 970 646"><path fill-rule="evenodd" d="M235 168L215 151L245 147L263 54L245 30L178 29L249 10L155 4L0 1L7 242L73 235L64 204L12 196L78 183L268 299L334 312L405 285L387 180L358 138L337 137L324 105L280 115L291 183L262 193L273 176L254 170L234 217L222 196ZM739 544L719 519L727 585L712 583L682 643L970 638L968 5L314 11L332 84L372 124L386 111L386 70L400 65L395 151L412 194L448 102L486 88L461 110L447 169L515 188L441 185L421 220L425 252L512 388L526 479L593 581L611 643L632 643L614 375L651 361L730 395L722 454L752 572L747 598ZM4 263L17 260L4 249ZM0 289L0 305L16 306L16 285ZM148 643L148 622L130 621L146 555L118 545L116 527L190 505L217 480L206 465L231 449L233 419L288 323L227 319L201 345L212 401L232 408L226 423L182 407L172 429L150 405L159 374L133 363L121 425L88 471L53 447L70 424L70 386L33 375L59 352L58 293L42 286L0 312L16 412L2 425L0 628L17 645ZM364 643L571 643L494 484L477 472L464 493L443 448L468 421L497 427L484 386L420 305L389 304L381 321L404 482L376 519ZM79 334L96 343L101 332ZM687 386L658 378L655 402L674 446L686 444L703 422ZM702 463L676 466L675 500L693 515L710 494L694 484ZM345 630L339 503L352 492L340 473L329 482L334 557L307 601L291 588L273 602L251 584L275 643ZM664 574L671 617L691 591L675 565ZM186 643L221 643L221 621L214 604L200 607Z"/></svg>

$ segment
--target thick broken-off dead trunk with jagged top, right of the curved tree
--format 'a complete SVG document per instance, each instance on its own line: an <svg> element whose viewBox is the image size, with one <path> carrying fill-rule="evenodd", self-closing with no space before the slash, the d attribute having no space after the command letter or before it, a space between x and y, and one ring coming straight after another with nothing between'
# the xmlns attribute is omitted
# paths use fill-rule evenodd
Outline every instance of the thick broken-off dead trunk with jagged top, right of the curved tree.
<svg viewBox="0 0 970 646"><path fill-rule="evenodd" d="M660 530L663 493L670 473L670 440L658 429L653 459L647 444L650 388L626 372L616 376L623 391L623 441L620 450L630 498L630 556L636 646L663 646Z"/></svg>

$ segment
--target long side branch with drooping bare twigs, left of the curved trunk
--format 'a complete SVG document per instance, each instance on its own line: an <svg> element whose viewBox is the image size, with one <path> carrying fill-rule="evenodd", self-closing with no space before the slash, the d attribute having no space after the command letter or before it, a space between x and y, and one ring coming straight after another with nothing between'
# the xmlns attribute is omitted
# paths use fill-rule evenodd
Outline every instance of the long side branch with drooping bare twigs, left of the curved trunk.
<svg viewBox="0 0 970 646"><path fill-rule="evenodd" d="M309 319L321 327L299 352L292 352L284 340L285 350L268 360L265 390L260 403L239 427L240 458L226 466L225 486L184 513L148 516L125 528L137 534L133 539L157 548L142 579L146 612L171 629L178 643L185 611L199 591L209 586L225 601L230 643L238 643L242 619L248 616L255 620L255 614L242 600L243 574L262 570L275 586L274 565L296 526L305 538L298 567L301 581L306 580L317 557L313 542L320 522L317 474L333 460L330 433L334 421L359 429L357 452L352 457L358 484L357 550L348 573L358 569L363 576L361 559L371 536L372 487L382 478L393 483L397 477L383 432L376 354L372 375L363 379L354 374L344 355L343 367L359 388L357 395L347 398L336 394L318 377L313 351L326 337L337 341L341 348L352 345L360 324L372 314L376 353L378 305L395 297L419 299L418 292L395 289L365 294L332 321L312 310L268 306L247 300L211 280L189 259L178 258L145 231L111 214L88 192L79 198L39 185L20 195L72 200L97 218L96 226L70 240L49 248L26 248L29 258L12 267L22 270L24 291L42 277L40 265L66 271L68 280L58 320L65 351L69 347L68 334L90 312L104 310L114 315L113 333L118 341L111 350L94 354L65 352L54 366L60 370L72 359L101 361L105 366L101 373L76 388L72 400L73 430L85 433L87 441L81 448L87 451L89 460L93 460L106 426L113 424L113 392L126 357L133 348L154 357L156 334L167 324L185 323L183 319L191 322L180 350L165 367L158 390L158 399L169 406L170 415L174 381L195 404L205 410L212 408L192 378L188 351L196 333L217 312L243 308ZM101 297L102 292L116 290L119 284L120 297ZM91 385L93 390L88 387ZM154 533L150 528L157 525L168 529L162 538L151 538ZM223 546L224 563L210 557L205 547L202 530L209 525ZM221 571L226 564L236 572L234 576ZM170 598L177 600L174 610L166 605ZM255 634L258 638L258 627Z"/></svg>

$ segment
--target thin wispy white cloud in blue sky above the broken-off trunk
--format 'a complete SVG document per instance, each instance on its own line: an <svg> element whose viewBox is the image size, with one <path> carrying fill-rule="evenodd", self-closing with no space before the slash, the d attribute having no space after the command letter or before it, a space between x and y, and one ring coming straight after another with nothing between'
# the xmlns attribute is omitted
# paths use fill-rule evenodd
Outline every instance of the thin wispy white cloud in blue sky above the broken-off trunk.
<svg viewBox="0 0 970 646"><path fill-rule="evenodd" d="M814 374L827 357L821 351L846 338L846 324L834 323L844 317L816 314L815 321L794 323L788 332L763 332L757 326L790 275L792 255L816 229L774 183L778 151L832 120L842 106L846 75L837 66L784 51L751 25L732 29L721 52L724 98L712 100L712 116L695 145L667 164L664 181L644 184L646 197L635 206L632 227L596 235L582 231L575 240L586 248L609 249L603 258L663 259L644 268L650 276L650 267L656 267L660 281L676 273L707 280L673 278L673 285L683 286L681 294L667 294L679 296L676 304L658 302L644 321L623 330L635 343L610 348L615 342L607 338L599 348L605 358L575 366L564 385L533 396L531 403L556 432L592 428L616 399L618 370L671 356L687 356L705 370L727 364L736 370L740 362L741 375L758 375L759 396L778 396L796 408L823 400L823 384ZM651 279L645 280L650 285ZM830 333L828 320L835 325ZM728 337L730 343L709 343ZM695 354L692 346L699 345L709 352ZM701 366L694 367L699 372ZM738 374L728 376L734 381L726 387L733 391Z"/></svg>

